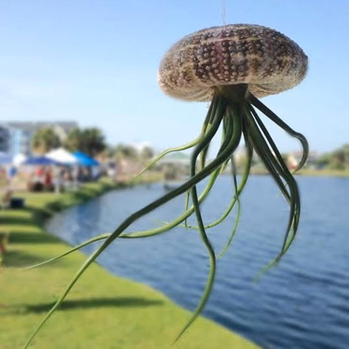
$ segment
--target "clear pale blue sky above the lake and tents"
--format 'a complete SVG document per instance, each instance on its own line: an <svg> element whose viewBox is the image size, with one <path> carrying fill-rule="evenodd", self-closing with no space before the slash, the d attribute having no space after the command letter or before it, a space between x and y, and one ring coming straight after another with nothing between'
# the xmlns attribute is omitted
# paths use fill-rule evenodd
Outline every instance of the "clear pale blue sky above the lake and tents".
<svg viewBox="0 0 349 349"><path fill-rule="evenodd" d="M156 149L199 133L206 103L164 95L157 69L182 36L222 25L222 0L27 1L0 4L1 120L76 120L111 144ZM309 73L263 99L312 150L349 143L349 1L226 0L225 23L254 23L295 40ZM296 141L266 122L281 151Z"/></svg>

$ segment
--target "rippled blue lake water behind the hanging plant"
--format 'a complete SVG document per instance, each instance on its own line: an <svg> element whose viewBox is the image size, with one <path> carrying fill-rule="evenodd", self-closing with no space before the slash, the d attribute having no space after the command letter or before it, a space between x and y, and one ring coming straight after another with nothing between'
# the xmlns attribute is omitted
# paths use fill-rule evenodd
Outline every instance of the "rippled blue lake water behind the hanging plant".
<svg viewBox="0 0 349 349"><path fill-rule="evenodd" d="M203 315L268 349L349 348L349 179L298 177L302 216L294 245L277 268L254 277L278 253L288 207L268 176L251 176L241 196L241 220L228 253L218 262ZM72 245L108 232L136 209L164 194L161 184L112 191L57 214L50 232ZM205 222L218 218L233 195L219 179L203 204ZM156 227L183 210L181 196L128 231ZM234 216L208 231L217 251ZM91 253L96 245L85 248ZM116 275L161 290L193 310L203 291L208 260L196 231L175 228L147 239L119 240L98 259Z"/></svg>

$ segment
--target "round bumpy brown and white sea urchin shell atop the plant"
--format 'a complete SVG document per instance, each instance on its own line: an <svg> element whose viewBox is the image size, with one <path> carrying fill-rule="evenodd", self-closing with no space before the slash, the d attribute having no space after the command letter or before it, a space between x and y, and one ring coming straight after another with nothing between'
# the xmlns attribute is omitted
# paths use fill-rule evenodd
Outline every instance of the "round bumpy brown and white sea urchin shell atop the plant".
<svg viewBox="0 0 349 349"><path fill-rule="evenodd" d="M196 31L170 48L158 81L168 95L209 101L214 86L248 84L256 97L280 93L305 77L308 57L280 32L252 24L228 24Z"/></svg>

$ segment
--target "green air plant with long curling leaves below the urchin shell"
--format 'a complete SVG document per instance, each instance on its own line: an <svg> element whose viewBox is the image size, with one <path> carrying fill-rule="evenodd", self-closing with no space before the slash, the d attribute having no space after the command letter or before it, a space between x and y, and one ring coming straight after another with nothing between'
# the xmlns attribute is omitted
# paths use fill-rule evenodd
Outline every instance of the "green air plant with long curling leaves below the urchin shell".
<svg viewBox="0 0 349 349"><path fill-rule="evenodd" d="M199 137L197 137L192 142L189 142L183 146L170 148L161 153L155 159L153 159L147 166L144 168L139 174L144 173L147 169L153 166L157 161L163 158L165 155L182 151L185 149L189 149L195 147L190 159L190 178L186 180L182 185L178 186L174 190L167 192L162 197L154 200L150 204L146 205L142 209L134 212L129 217L127 217L118 228L112 232L107 234L101 234L99 236L88 239L79 245L69 249L68 251L62 253L59 256L53 257L47 261L23 268L30 269L38 266L42 266L48 262L52 262L59 258L69 255L77 251L78 249L92 244L96 241L102 241L101 245L92 253L80 269L77 271L75 276L69 282L67 288L63 292L63 294L59 297L55 305L50 309L50 311L46 314L43 320L40 322L38 327L32 333L25 346L26 349L31 343L32 339L35 337L37 332L41 329L41 327L45 324L45 322L50 318L50 316L55 312L55 310L60 306L60 304L64 301L65 297L74 286L75 282L80 278L80 276L85 272L85 270L96 260L96 258L116 239L134 239L134 238L145 238L150 236L159 235L165 233L174 227L181 225L184 222L184 226L186 228L197 229L203 244L206 247L209 259L209 273L207 282L205 285L205 289L203 291L202 297L196 309L194 310L192 316L185 324L183 329L180 331L179 335L175 339L177 341L181 335L187 330L187 328L193 323L193 321L197 318L197 316L201 313L202 309L206 305L208 298L212 291L212 286L215 278L216 271L216 263L217 259L222 257L230 247L230 244L233 240L235 232L237 230L239 218L240 218L240 195L246 185L247 179L250 174L251 164L253 152L255 151L265 167L275 180L277 186L281 190L284 195L286 201L290 206L290 215L289 220L285 232L285 237L283 240L282 248L279 255L273 260L267 268L277 264L280 258L286 253L286 251L291 246L298 229L299 220L300 220L300 195L297 183L287 168L284 160L280 152L278 151L275 143L273 142L270 134L259 118L257 112L252 107L255 106L262 113L264 113L268 118L270 118L273 122L275 122L278 126L280 126L283 130L285 130L288 134L293 137L296 137L301 141L303 146L303 157L296 168L298 171L302 168L307 160L309 154L309 146L305 137L291 129L288 125L286 125L280 118L278 118L269 108L267 108L263 103L261 103L257 98L253 95L248 95L247 93L247 85L237 85L235 87L219 87L216 89L216 93L212 99L211 105L207 112L206 118L204 120L201 133ZM220 125L222 125L222 141L220 149L213 161L206 164L207 152L210 142L213 137L216 135L217 130ZM241 136L244 136L245 139L245 147L247 150L246 162L244 164L244 169L241 175L241 179L239 184L236 179L236 167L234 164L233 153L238 147ZM196 172L196 161L199 159L199 166ZM204 224L201 211L200 204L205 200L212 189L217 177L219 174L222 174L228 162L232 163L232 178L234 183L234 194L231 202L229 203L225 212L214 222L209 224ZM203 180L205 177L210 176L208 182L206 183L203 191L200 195L197 193L196 185ZM173 221L169 223L165 223L160 227L154 229L148 229L143 231L129 232L126 233L125 230L134 223L137 219L143 217L144 215L152 212L156 208L166 204L170 200L174 199L178 195L186 193L185 199L185 210L184 212L176 217ZM189 207L189 198L191 196L192 205ZM237 204L235 224L229 235L227 242L225 243L221 252L217 255L207 237L206 229L209 229L213 226L221 223L233 210L235 204ZM186 222L186 219L195 214L197 226L189 226Z"/></svg>

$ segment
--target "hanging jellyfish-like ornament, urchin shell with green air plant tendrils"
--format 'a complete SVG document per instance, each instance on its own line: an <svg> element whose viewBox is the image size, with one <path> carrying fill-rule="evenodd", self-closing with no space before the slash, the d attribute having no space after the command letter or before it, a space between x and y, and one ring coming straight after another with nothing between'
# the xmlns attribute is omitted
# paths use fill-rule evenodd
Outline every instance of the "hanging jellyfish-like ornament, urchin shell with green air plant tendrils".
<svg viewBox="0 0 349 349"><path fill-rule="evenodd" d="M179 333L178 339L204 308L214 282L217 257L207 237L206 230L225 219L237 203L238 211L235 225L223 251L218 254L218 256L222 256L228 249L237 228L240 210L239 196L247 182L254 152L258 154L290 206L288 225L280 253L269 266L277 264L296 236L301 212L300 195L294 176L285 164L256 109L301 142L303 158L295 171L304 166L309 150L305 137L291 129L257 98L278 94L298 85L304 79L307 67L308 58L294 41L276 30L260 25L229 24L211 27L187 35L174 44L160 64L158 81L161 89L166 94L185 101L209 101L210 106L201 133L195 140L181 147L166 150L155 158L146 169L170 152L194 147L190 160L190 178L179 187L131 214L113 233L87 240L61 256L49 260L61 258L87 244L104 240L78 270L24 348L28 347L42 325L63 302L83 272L116 238L130 239L154 236L183 224L187 228L195 228L199 231L209 256L210 271L200 303ZM222 129L220 149L213 161L207 164L206 156L210 142L220 128ZM247 151L247 160L238 185L233 155L242 136ZM207 197L215 180L229 161L232 163L235 186L233 198L219 219L205 225L200 212L200 203ZM207 176L210 178L201 194L198 195L196 184ZM164 223L156 229L125 233L125 229L137 219L184 193L187 193L185 210L172 222ZM192 201L190 207L189 195ZM193 213L196 216L196 227L190 227L186 222L186 219ZM35 266L41 264L43 263Z"/></svg>

